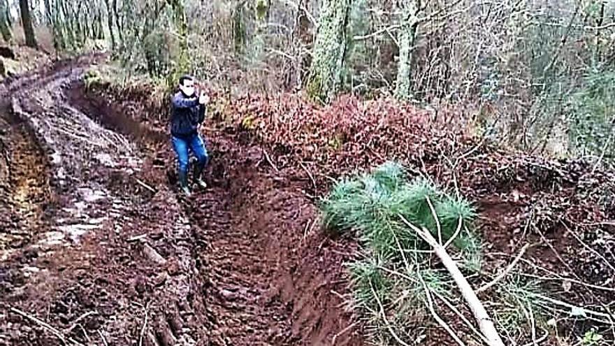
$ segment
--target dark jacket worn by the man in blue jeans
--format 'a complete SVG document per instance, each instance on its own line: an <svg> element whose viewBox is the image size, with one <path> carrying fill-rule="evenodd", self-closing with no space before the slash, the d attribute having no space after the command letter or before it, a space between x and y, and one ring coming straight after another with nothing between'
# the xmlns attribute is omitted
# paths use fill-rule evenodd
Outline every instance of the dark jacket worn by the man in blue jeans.
<svg viewBox="0 0 615 346"><path fill-rule="evenodd" d="M171 100L171 134L186 138L197 134L198 124L205 119L205 106L198 103L198 97L188 97L183 92L173 95Z"/></svg>

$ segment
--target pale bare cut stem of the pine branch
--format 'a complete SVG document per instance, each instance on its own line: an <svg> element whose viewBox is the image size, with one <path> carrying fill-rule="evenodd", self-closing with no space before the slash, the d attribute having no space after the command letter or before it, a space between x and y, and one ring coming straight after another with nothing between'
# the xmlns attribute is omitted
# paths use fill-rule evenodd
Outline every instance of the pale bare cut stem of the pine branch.
<svg viewBox="0 0 615 346"><path fill-rule="evenodd" d="M489 317L484 305L477 297L476 292L472 289L472 286L470 286L468 280L465 279L465 276L463 276L463 273L461 273L458 266L455 264L455 261L453 261L453 259L449 256L444 246L438 243L426 229L419 229L417 226L414 226L414 224L405 219L403 215L399 215L399 217L408 227L410 227L410 229L412 229L412 231L416 232L418 236L423 238L423 240L433 247L433 251L440 261L442 261L442 264L444 264L444 268L447 268L447 271L451 274L453 280L455 280L455 283L461 291L461 295L465 299L466 303L468 303L470 310L472 310L472 314L479 325L479 329L484 334L488 345L504 346L498 330L495 329L493 319Z"/></svg>

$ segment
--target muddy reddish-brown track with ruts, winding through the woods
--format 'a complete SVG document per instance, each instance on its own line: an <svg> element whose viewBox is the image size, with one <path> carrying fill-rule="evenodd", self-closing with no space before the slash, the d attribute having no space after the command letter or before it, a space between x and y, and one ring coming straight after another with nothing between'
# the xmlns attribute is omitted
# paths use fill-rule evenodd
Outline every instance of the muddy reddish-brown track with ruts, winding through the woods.
<svg viewBox="0 0 615 346"><path fill-rule="evenodd" d="M361 345L352 244L317 231L303 183L211 127L211 187L182 199L166 129L83 88L96 59L0 90L0 345Z"/></svg>

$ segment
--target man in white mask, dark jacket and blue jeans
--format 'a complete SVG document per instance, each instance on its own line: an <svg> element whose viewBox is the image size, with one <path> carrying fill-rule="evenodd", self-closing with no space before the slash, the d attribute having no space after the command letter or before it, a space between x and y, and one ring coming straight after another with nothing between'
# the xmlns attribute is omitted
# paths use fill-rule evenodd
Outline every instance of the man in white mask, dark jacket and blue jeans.
<svg viewBox="0 0 615 346"><path fill-rule="evenodd" d="M180 91L173 95L171 101L171 138L173 149L178 156L178 178L180 189L186 196L190 196L188 187L189 152L196 157L194 167L194 182L198 187L205 189L207 184L201 175L203 168L208 164L209 157L205 149L203 138L198 134L198 125L205 119L205 107L209 97L205 92L197 93L194 89L194 78L184 75L180 78Z"/></svg>

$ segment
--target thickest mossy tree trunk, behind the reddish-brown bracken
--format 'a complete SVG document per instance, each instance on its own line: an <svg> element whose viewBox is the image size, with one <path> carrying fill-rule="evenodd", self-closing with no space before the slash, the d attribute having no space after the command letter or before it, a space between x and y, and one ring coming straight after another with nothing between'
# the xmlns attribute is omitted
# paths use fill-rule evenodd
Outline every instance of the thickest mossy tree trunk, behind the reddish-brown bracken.
<svg viewBox="0 0 615 346"><path fill-rule="evenodd" d="M307 96L329 102L340 89L346 55L346 24L352 0L324 0L307 77Z"/></svg>

